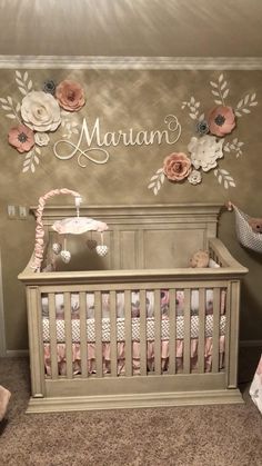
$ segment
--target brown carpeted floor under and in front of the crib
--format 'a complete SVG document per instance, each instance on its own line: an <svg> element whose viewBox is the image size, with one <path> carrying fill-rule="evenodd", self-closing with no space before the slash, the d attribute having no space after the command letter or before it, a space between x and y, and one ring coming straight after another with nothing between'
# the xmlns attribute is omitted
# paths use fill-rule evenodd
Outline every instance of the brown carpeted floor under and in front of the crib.
<svg viewBox="0 0 262 466"><path fill-rule="evenodd" d="M244 405L26 415L28 360L0 359L0 384L12 393L0 465L262 466L262 416L242 368Z"/></svg>

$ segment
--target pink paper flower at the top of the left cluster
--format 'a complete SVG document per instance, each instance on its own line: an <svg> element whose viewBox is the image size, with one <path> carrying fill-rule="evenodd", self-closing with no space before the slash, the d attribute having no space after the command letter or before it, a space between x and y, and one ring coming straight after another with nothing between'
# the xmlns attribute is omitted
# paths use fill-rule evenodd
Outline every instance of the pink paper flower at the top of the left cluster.
<svg viewBox="0 0 262 466"><path fill-rule="evenodd" d="M56 89L60 107L68 111L80 110L85 102L82 87L74 81L64 80Z"/></svg>

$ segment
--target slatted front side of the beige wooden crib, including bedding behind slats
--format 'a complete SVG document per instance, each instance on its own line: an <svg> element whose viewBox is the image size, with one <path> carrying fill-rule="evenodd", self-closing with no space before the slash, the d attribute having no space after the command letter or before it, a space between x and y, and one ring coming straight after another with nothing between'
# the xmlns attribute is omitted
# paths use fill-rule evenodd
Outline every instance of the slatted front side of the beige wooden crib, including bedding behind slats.
<svg viewBox="0 0 262 466"><path fill-rule="evenodd" d="M28 412L241 403L242 272L27 277Z"/></svg>

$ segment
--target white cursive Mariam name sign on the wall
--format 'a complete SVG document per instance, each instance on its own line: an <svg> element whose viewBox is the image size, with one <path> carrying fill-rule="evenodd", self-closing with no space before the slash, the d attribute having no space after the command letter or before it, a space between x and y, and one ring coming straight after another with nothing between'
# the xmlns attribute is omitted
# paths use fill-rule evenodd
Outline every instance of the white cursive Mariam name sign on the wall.
<svg viewBox="0 0 262 466"><path fill-rule="evenodd" d="M140 130L134 131L129 128L127 131L108 131L102 135L100 119L97 118L94 125L89 128L87 119L83 119L79 140L73 143L69 139L60 139L53 146L54 156L60 160L69 160L77 156L80 167L85 168L88 160L93 163L107 163L109 159L110 147L123 145L129 146L150 146L153 143L174 145L181 136L181 125L174 115L168 115L164 118L167 129ZM84 148L84 146L87 148Z"/></svg>

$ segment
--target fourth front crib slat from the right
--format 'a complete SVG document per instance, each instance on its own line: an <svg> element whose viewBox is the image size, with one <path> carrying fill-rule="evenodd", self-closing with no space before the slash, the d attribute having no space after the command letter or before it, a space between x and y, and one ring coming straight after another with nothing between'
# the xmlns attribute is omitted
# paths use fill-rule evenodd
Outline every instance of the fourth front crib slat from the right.
<svg viewBox="0 0 262 466"><path fill-rule="evenodd" d="M177 306L175 289L169 290L169 374L175 374Z"/></svg>

